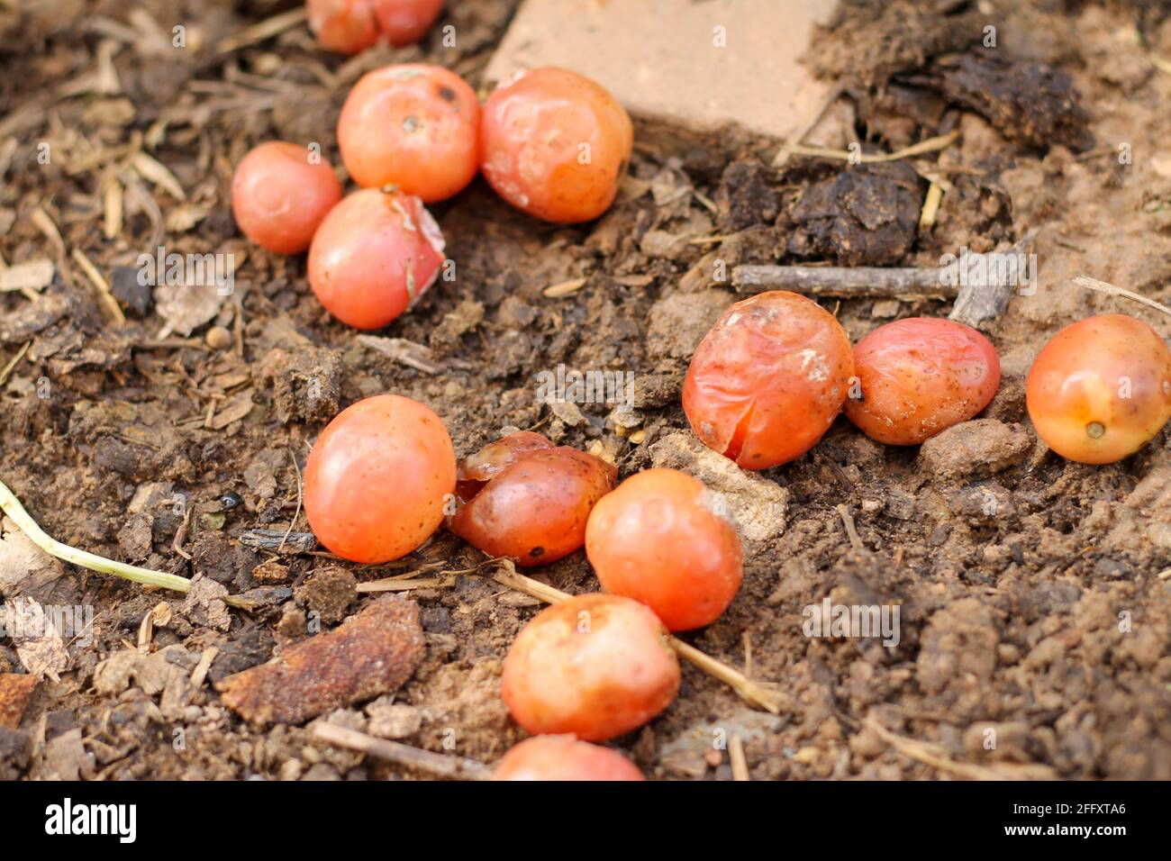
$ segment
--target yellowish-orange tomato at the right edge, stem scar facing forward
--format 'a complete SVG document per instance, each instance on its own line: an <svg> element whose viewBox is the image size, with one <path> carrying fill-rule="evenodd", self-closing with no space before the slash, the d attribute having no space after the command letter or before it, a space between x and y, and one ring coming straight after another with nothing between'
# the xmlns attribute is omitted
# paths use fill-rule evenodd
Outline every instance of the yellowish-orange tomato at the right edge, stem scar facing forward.
<svg viewBox="0 0 1171 861"><path fill-rule="evenodd" d="M1155 329L1102 314L1050 339L1025 382L1041 439L1069 460L1112 464L1171 418L1171 351Z"/></svg>

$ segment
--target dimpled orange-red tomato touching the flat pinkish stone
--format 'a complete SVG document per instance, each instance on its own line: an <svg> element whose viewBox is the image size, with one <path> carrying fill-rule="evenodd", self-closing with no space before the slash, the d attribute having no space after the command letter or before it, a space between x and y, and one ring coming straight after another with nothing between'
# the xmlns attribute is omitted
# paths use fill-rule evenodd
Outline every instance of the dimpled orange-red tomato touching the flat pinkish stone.
<svg viewBox="0 0 1171 861"><path fill-rule="evenodd" d="M484 176L509 204L546 221L588 221L605 212L632 146L622 105L568 69L529 71L484 105Z"/></svg>

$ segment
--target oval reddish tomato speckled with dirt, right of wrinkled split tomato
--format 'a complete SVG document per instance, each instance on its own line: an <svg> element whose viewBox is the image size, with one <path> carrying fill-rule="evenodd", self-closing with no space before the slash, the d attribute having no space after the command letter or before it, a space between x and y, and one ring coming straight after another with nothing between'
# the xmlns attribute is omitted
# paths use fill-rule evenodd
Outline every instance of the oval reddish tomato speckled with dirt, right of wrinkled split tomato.
<svg viewBox="0 0 1171 861"><path fill-rule="evenodd" d="M918 445L974 418L1000 388L1000 358L970 326L908 317L879 326L854 348L860 397L845 416L871 439Z"/></svg>

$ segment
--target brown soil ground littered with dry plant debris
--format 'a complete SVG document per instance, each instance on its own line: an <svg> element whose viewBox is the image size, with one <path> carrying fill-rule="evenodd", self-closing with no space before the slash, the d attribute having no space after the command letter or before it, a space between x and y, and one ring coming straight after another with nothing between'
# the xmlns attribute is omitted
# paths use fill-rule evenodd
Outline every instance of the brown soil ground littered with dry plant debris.
<svg viewBox="0 0 1171 861"><path fill-rule="evenodd" d="M333 620L372 601L354 600L344 578L321 575L340 563L320 552L241 544L246 529L272 529L279 541L290 522L308 528L295 518L294 459L303 465L335 405L393 391L431 405L460 455L519 428L611 459L619 477L651 465L656 451L672 464L696 462L678 394L694 344L734 301L713 281L714 265L807 262L807 254L836 262L838 250L822 244L833 234L810 232L802 200L842 183L852 197L830 199L828 211L845 206L849 230L892 231L897 241L884 234L875 246L884 264L936 266L960 246L986 251L1039 232L1039 291L1016 296L989 328L1005 383L982 423L964 429L971 453L963 463L953 451L920 458L917 449L884 449L840 421L800 460L753 477L771 493L712 473L742 506L733 517L746 534L745 582L718 622L686 638L778 683L790 708L775 717L752 711L687 665L678 701L617 745L659 778L730 777L726 754L715 766L707 758L721 733L744 739L758 779L952 777L896 751L877 724L954 763L1171 778L1171 580L1160 576L1171 566L1171 443L1163 432L1111 466L1066 463L1038 443L1022 388L1046 337L1080 316L1122 310L1169 332L1171 321L1156 313L1080 292L1070 279L1089 274L1171 301L1171 74L1146 54L1171 57L1171 22L1124 4L980 5L992 12L918 4L913 14L906 4L884 4L881 14L849 4L838 28L822 35L816 64L851 75L851 98L810 139L890 150L957 128L959 143L911 163L918 177L899 168L906 176L895 179L840 162L793 158L774 170L710 151L669 157L639 148L614 210L573 228L518 216L478 182L433 207L454 280L440 280L377 333L415 342L436 371L427 373L330 320L306 283L303 257L268 254L237 233L231 171L274 137L317 142L337 164L337 112L370 68L429 59L478 83L512 5L452 0L441 23L456 26L454 48L437 29L423 46L354 60L316 50L304 27L215 53L220 39L271 14L272 2L249 12L249 4L146 0L130 19L114 0L0 11L0 254L9 265L56 265L36 302L0 293L0 368L29 344L0 388L0 477L62 541L200 574L231 593L267 589L220 630L214 589L185 602L43 560L26 578L35 555L6 525L4 597L89 604L95 624L91 643L71 644L60 682L40 683L19 729L0 727L0 777L410 777L313 743L301 726L251 727L211 684L304 642L314 606L341 602ZM1046 128L1067 128L1060 117L1029 127L1040 138L1006 137L998 131L1004 102L947 103L959 91L946 83L952 61L944 57L978 46L987 21L998 26L999 61L1068 76L1094 149L1041 139ZM171 46L179 22L184 49ZM95 75L103 56L105 74ZM1060 87L1063 78L1011 80L1027 97L1029 80ZM1021 98L1019 87L1011 97ZM173 173L185 199L133 159L138 149ZM897 183L915 198L916 218L902 214L904 201L897 216L870 220L863 173ZM920 177L947 184L930 230L916 224ZM107 238L115 186L124 218ZM850 209L858 200L863 209ZM132 274L159 245L234 254L234 295L136 296L119 267ZM125 327L103 316L74 250L118 287ZM584 279L580 289L543 295L574 279ZM892 316L950 309L927 300L826 305L855 340ZM230 337L217 333L210 348L213 327ZM166 343L155 343L163 334ZM535 376L560 363L634 373L634 415L611 412L612 404L554 412L539 403ZM225 505L227 493L241 504ZM842 505L861 546L849 540ZM436 576L481 560L440 532L393 566L344 567L361 582ZM597 587L581 553L535 570L567 592ZM827 595L900 604L898 645L808 638L802 611ZM522 736L499 699L500 662L537 602L474 575L440 576L410 600L426 647L397 702L382 697L329 719L495 759ZM144 616L164 601L171 617L156 626L150 654L131 651ZM210 682L197 688L201 660L211 661ZM23 671L20 658L0 640L0 672L13 671ZM998 739L991 750L988 729Z"/></svg>

